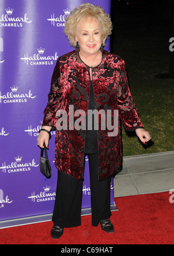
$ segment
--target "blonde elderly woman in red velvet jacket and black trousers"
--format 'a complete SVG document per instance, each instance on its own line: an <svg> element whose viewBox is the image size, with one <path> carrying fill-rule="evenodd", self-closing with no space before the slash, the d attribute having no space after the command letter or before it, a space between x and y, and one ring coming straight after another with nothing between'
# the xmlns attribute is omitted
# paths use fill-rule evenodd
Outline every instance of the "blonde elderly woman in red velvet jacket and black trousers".
<svg viewBox="0 0 174 256"><path fill-rule="evenodd" d="M51 231L54 239L63 234L64 227L81 225L86 155L90 169L92 225L100 223L105 232L114 232L110 221L110 183L111 177L121 171L121 121L126 130L136 131L143 143L151 138L137 115L123 59L103 50L111 29L109 15L100 6L90 3L75 8L66 19L64 32L76 50L57 59L38 136L39 147L43 148L44 142L48 146L49 132L52 127L57 128L58 179ZM96 115L91 115L91 118L95 116L93 120L88 118L89 110L111 113L107 120L118 117L114 119L117 132L109 134L113 126L102 125L104 115L98 120ZM65 112L63 119L61 114ZM86 118L79 122L81 113L85 113ZM74 125L72 122L70 125L72 120ZM64 121L67 123L61 125ZM78 129L75 129L75 122L78 122Z"/></svg>

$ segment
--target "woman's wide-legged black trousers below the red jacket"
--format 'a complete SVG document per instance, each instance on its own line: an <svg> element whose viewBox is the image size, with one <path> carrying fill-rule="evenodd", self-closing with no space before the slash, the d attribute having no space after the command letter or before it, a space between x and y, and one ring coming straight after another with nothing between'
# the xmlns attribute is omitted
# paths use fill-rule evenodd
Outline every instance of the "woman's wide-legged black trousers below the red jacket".
<svg viewBox="0 0 174 256"><path fill-rule="evenodd" d="M111 177L99 181L99 155L88 154L90 172L90 192L92 208L92 225L98 226L100 220L110 218ZM58 170L55 208L52 221L61 227L81 225L83 180L77 180L69 174Z"/></svg>

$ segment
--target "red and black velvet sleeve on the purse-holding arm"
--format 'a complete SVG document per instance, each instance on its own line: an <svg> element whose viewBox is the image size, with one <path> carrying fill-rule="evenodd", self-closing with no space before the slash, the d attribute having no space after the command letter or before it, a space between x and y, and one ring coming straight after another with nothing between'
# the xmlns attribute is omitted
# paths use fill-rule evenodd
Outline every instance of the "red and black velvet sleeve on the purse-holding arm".
<svg viewBox="0 0 174 256"><path fill-rule="evenodd" d="M44 120L42 125L56 127L56 111L60 108L63 97L60 80L60 62L57 59L55 69L53 71L50 92L48 94L48 104L44 110Z"/></svg>

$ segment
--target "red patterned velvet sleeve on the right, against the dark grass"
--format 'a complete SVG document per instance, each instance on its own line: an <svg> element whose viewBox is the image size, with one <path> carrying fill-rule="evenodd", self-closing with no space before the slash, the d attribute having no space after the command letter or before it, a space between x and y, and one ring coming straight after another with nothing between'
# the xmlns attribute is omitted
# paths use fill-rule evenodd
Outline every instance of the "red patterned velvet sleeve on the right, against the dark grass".
<svg viewBox="0 0 174 256"><path fill-rule="evenodd" d="M125 71L125 62L119 59L118 72L118 110L122 124L126 131L135 131L137 128L143 128L144 125L139 119L137 108L132 99L131 91L128 85L128 78Z"/></svg>

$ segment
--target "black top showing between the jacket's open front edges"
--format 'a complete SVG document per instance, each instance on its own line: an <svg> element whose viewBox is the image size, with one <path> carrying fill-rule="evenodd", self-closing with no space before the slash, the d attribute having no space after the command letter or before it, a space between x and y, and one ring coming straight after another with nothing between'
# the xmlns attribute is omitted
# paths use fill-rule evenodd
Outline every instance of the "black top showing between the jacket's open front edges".
<svg viewBox="0 0 174 256"><path fill-rule="evenodd" d="M95 95L93 91L92 80L90 80L88 110L95 110ZM91 153L98 152L98 137L97 137L96 126L94 127L94 121L96 122L95 115L92 114L92 119L90 118L89 123L88 123L88 115L89 113L86 116L85 153L91 154Z"/></svg>

